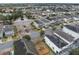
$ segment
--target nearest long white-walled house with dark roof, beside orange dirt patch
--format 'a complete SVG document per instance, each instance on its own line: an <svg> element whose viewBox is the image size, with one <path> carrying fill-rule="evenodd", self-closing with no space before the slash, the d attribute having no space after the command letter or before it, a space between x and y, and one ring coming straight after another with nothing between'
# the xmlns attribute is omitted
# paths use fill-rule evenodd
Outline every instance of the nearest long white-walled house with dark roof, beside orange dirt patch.
<svg viewBox="0 0 79 59"><path fill-rule="evenodd" d="M54 33L52 35L46 34L45 37L46 44L55 52L59 53L64 46L67 46L68 43L62 40L60 37L56 36Z"/></svg>

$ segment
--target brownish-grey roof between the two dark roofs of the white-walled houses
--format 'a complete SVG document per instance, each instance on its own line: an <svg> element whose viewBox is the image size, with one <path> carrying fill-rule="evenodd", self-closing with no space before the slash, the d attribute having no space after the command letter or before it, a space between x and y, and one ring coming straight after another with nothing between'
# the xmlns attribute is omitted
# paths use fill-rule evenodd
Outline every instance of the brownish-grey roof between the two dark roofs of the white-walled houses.
<svg viewBox="0 0 79 59"><path fill-rule="evenodd" d="M63 32L62 30L57 30L57 31L55 31L55 33L57 33L58 35L60 35L61 37L63 37L68 42L72 42L73 39L74 39L74 37L72 37L71 35Z"/></svg>

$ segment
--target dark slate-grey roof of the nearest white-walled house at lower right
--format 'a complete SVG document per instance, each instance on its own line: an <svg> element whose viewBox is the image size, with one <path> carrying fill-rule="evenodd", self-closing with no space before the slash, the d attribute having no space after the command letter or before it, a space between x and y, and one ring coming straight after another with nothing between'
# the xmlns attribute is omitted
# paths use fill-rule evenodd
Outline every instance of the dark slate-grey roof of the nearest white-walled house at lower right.
<svg viewBox="0 0 79 59"><path fill-rule="evenodd" d="M58 48L62 48L67 45L65 41L63 41L61 38L57 37L56 35L46 35L50 41L52 41Z"/></svg>

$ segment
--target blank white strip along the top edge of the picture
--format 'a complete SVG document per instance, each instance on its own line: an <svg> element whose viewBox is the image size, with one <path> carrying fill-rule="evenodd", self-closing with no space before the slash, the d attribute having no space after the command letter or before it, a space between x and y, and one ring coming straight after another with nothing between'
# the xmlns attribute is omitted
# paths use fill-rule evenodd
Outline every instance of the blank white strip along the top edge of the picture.
<svg viewBox="0 0 79 59"><path fill-rule="evenodd" d="M0 0L0 3L79 3L79 0Z"/></svg>

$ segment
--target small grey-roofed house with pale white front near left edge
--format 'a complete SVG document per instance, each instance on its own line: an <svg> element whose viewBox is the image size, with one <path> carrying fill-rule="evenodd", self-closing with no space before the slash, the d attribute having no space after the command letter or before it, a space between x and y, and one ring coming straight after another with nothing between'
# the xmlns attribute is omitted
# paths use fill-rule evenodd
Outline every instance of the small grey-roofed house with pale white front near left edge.
<svg viewBox="0 0 79 59"><path fill-rule="evenodd" d="M3 28L3 32L4 32L5 36L13 36L14 28L12 25L5 25Z"/></svg>

